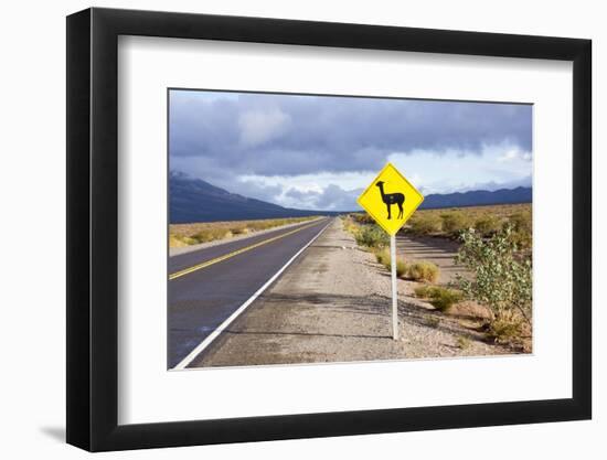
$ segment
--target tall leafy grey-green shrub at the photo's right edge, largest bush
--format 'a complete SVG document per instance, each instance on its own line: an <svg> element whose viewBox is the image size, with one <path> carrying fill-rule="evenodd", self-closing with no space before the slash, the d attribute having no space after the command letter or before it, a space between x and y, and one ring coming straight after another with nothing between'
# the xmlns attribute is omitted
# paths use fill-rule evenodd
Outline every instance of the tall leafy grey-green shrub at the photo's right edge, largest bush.
<svg viewBox="0 0 607 460"><path fill-rule="evenodd" d="M458 276L465 295L486 304L492 322L511 320L517 311L531 324L531 260L518 260L512 228L507 226L490 239L478 232L465 231L461 240L456 263L475 274L473 279Z"/></svg>

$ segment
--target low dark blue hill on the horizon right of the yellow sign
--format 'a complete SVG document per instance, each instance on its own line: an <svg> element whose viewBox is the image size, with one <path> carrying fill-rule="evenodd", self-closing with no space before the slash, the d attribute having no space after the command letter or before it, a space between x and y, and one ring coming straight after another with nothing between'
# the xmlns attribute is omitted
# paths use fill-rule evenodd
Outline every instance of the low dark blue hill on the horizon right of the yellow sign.
<svg viewBox="0 0 607 460"><path fill-rule="evenodd" d="M482 206L489 204L531 203L532 189L519 186L517 189L501 189L494 192L473 190L446 194L430 194L424 199L420 210L438 207Z"/></svg>

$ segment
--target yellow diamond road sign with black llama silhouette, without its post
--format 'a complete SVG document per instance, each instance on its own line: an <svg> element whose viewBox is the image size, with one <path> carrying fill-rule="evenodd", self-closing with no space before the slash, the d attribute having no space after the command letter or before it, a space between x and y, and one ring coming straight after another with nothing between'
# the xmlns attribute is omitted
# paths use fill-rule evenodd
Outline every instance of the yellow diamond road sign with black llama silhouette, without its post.
<svg viewBox="0 0 607 460"><path fill-rule="evenodd" d="M424 196L392 163L387 163L356 202L390 235L407 222Z"/></svg>

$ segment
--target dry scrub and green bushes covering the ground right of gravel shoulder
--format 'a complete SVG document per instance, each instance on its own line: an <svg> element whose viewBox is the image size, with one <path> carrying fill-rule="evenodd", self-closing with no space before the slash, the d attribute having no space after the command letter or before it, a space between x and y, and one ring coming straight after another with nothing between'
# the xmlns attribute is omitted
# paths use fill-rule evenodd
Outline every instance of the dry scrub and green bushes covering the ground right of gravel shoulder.
<svg viewBox="0 0 607 460"><path fill-rule="evenodd" d="M344 217L356 243L391 269L390 239L366 214ZM398 260L398 277L422 282L415 297L441 314L462 314L487 341L531 350L532 336L532 211L531 204L417 211L403 228L412 237L448 238L459 243L455 263L466 274L437 286L438 267L427 260ZM458 346L466 347L466 338Z"/></svg>

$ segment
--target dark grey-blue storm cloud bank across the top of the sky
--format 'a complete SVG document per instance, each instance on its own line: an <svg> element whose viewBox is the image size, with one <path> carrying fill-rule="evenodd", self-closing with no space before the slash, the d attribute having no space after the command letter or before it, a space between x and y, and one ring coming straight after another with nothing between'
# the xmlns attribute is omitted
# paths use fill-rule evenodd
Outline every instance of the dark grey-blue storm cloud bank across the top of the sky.
<svg viewBox="0 0 607 460"><path fill-rule="evenodd" d="M233 173L296 175L381 168L390 152L531 150L531 106L359 97L171 92L170 152Z"/></svg>

